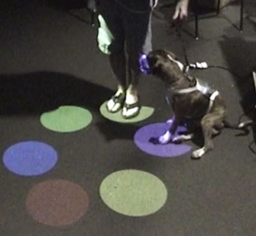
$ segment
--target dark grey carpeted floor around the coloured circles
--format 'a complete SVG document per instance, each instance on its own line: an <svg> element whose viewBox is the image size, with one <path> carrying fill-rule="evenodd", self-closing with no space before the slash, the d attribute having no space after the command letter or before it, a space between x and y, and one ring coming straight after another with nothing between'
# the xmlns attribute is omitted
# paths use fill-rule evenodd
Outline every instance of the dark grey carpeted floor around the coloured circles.
<svg viewBox="0 0 256 236"><path fill-rule="evenodd" d="M96 48L96 28L89 25L88 12L75 7L68 14L54 1L42 2L0 3L0 152L18 141L42 140L54 146L61 158L52 171L35 178L14 175L0 165L0 235L255 235L253 130L245 137L223 131L214 139L214 151L199 161L191 161L190 153L165 160L145 154L134 145L133 135L139 127L171 115L162 84L153 77L141 78L141 102L156 108L148 120L122 125L102 118L98 108L112 95L115 80L106 56ZM256 33L255 22L248 19L255 9L253 1L246 1L243 33L233 26L239 24L236 4L225 7L221 16L201 19L198 41L191 36L192 17L182 33L190 62L207 61L232 71L193 73L220 90L233 121L244 112L255 118L251 71L256 63ZM166 18L167 12L172 14L169 8L162 11ZM153 31L154 48L167 48L183 59L182 45L167 21L154 18ZM44 129L40 114L63 104L89 109L92 124L68 135ZM158 176L169 192L165 206L142 218L122 216L106 207L98 188L106 175L121 169ZM88 192L88 212L72 226L44 226L25 210L29 189L56 178L76 182Z"/></svg>

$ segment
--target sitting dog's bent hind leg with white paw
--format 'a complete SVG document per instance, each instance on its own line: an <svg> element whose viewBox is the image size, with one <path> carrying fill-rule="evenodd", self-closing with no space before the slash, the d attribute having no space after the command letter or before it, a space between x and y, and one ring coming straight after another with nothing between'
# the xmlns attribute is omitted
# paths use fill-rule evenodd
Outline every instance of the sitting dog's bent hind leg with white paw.
<svg viewBox="0 0 256 236"><path fill-rule="evenodd" d="M192 158L201 158L203 154L213 149L212 135L214 135L214 127L223 127L223 116L218 113L210 113L205 115L201 120L203 131L204 146L192 153Z"/></svg>

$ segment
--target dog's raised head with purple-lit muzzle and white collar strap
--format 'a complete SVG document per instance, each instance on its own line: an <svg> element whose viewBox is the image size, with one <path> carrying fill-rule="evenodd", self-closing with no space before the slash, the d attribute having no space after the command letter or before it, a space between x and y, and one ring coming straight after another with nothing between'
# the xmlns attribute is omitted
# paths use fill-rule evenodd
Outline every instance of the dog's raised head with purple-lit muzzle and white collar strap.
<svg viewBox="0 0 256 236"><path fill-rule="evenodd" d="M181 76L184 69L184 65L177 61L175 54L167 50L153 50L149 54L143 54L139 63L143 73L160 78Z"/></svg>

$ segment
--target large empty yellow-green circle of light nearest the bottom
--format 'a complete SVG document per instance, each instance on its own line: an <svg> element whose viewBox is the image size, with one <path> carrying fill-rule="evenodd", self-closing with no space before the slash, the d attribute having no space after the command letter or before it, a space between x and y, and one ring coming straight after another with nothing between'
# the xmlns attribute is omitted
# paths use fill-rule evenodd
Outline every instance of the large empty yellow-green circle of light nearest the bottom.
<svg viewBox="0 0 256 236"><path fill-rule="evenodd" d="M134 169L117 171L100 184L100 197L125 216L147 216L167 201L167 188L155 175Z"/></svg>

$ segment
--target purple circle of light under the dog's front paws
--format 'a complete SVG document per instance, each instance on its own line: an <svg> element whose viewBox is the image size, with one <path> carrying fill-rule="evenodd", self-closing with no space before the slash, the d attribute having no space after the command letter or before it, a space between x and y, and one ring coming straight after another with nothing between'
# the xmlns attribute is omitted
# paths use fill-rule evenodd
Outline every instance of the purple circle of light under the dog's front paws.
<svg viewBox="0 0 256 236"><path fill-rule="evenodd" d="M135 133L134 142L143 152L154 156L173 157L189 152L192 147L186 144L152 144L150 142L150 138L163 135L168 128L169 124L167 123L149 124ZM186 131L186 128L178 127L175 135L181 131Z"/></svg>

